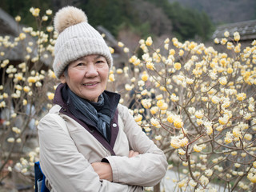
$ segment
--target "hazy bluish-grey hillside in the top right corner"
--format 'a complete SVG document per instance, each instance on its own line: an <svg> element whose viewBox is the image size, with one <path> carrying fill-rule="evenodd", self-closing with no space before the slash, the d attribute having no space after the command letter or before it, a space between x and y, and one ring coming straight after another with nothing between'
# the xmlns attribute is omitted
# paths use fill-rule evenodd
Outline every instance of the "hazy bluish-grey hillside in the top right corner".
<svg viewBox="0 0 256 192"><path fill-rule="evenodd" d="M169 0L205 11L215 24L256 19L255 0Z"/></svg>

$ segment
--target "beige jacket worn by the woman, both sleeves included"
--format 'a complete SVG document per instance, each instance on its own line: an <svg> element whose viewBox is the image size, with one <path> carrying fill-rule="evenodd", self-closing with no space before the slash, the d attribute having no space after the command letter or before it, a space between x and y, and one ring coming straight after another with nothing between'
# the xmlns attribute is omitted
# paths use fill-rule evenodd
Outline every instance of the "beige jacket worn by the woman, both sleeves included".
<svg viewBox="0 0 256 192"><path fill-rule="evenodd" d="M134 122L126 106L118 105L118 135L111 155L90 131L54 106L38 125L40 164L50 191L143 191L166 174L166 156ZM52 113L66 122L67 133ZM128 158L129 150L139 155ZM90 165L106 158L113 170L113 182L100 180Z"/></svg>

